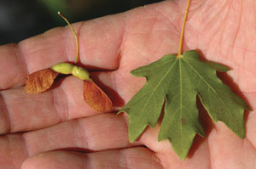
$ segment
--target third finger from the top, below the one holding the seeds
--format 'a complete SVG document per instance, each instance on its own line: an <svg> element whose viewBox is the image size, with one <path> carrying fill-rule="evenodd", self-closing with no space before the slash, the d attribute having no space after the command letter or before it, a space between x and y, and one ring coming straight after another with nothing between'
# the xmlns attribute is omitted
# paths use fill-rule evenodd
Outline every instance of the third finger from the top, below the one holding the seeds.
<svg viewBox="0 0 256 169"><path fill-rule="evenodd" d="M121 115L102 114L23 134L0 136L0 166L16 168L28 156L55 149L100 151L137 146Z"/></svg>

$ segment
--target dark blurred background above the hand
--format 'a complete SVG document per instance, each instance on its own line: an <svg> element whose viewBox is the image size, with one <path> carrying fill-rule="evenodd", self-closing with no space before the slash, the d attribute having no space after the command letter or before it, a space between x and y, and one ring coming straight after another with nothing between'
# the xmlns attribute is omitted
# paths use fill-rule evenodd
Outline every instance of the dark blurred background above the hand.
<svg viewBox="0 0 256 169"><path fill-rule="evenodd" d="M161 0L0 0L0 45L20 42L56 26L67 25L57 11L73 23Z"/></svg>

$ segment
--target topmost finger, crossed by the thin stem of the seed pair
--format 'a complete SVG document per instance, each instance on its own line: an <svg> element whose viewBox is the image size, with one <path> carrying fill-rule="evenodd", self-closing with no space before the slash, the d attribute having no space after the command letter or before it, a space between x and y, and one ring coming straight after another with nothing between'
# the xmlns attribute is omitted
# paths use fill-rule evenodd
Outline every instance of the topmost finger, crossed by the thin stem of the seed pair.
<svg viewBox="0 0 256 169"><path fill-rule="evenodd" d="M119 47L124 31L124 14L73 24L79 36L81 65L114 70L119 66ZM61 18L60 18L61 20ZM0 90L15 87L26 75L59 62L74 61L76 42L68 26L0 47Z"/></svg>

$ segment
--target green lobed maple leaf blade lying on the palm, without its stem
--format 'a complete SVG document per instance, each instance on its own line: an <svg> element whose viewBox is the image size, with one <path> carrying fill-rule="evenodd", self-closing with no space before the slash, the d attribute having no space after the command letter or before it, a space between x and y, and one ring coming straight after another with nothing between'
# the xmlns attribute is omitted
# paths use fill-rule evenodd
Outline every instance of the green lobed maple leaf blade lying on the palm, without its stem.
<svg viewBox="0 0 256 169"><path fill-rule="evenodd" d="M216 70L230 70L224 65L202 61L196 51L183 57L165 55L156 62L132 70L134 76L145 76L146 84L120 112L129 115L129 138L134 142L148 125L154 127L166 100L159 141L169 139L180 159L185 159L195 134L205 136L201 127L196 95L212 121L223 121L240 138L245 137L246 102L233 93L216 76Z"/></svg>

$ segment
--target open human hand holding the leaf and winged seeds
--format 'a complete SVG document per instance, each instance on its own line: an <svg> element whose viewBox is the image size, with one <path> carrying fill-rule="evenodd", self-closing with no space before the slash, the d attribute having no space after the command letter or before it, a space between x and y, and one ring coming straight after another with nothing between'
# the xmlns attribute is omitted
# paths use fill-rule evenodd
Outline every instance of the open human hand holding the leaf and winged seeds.
<svg viewBox="0 0 256 169"><path fill-rule="evenodd" d="M177 54L185 5L183 0L165 1L73 24L81 65L96 70L92 76L113 99L115 110L145 82L130 70ZM253 109L245 113L245 139L220 121L212 123L201 110L207 137L196 136L188 158L180 161L168 141L157 141L159 125L130 144L127 115L91 110L84 103L83 82L74 76L45 93L25 93L27 74L74 60L72 32L55 28L0 47L1 169L255 168L255 10L253 0L193 0L183 45L231 68L220 76Z"/></svg>

